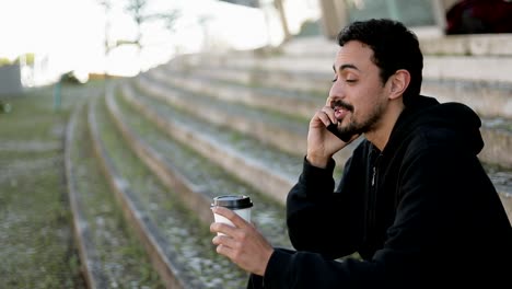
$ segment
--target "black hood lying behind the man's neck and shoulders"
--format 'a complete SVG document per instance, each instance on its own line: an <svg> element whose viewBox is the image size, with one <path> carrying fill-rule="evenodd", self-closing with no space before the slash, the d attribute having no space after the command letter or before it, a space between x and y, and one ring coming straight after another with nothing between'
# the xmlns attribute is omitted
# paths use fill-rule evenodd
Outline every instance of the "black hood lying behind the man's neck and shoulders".
<svg viewBox="0 0 512 289"><path fill-rule="evenodd" d="M398 146L410 134L424 131L432 141L467 149L476 155L484 148L480 126L480 117L465 104L419 96L398 117L384 150Z"/></svg>

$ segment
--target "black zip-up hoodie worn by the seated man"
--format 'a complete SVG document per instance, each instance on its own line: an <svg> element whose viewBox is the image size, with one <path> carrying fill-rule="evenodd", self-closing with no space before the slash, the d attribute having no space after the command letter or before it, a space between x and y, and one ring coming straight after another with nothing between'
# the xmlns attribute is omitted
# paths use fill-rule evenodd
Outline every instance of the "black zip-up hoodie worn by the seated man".
<svg viewBox="0 0 512 289"><path fill-rule="evenodd" d="M509 282L512 228L477 154L479 117L427 96L381 152L363 140L335 190L304 160L287 200L290 240L249 288L484 288ZM352 255L358 253L358 255ZM348 256L348 257L347 257ZM254 284L253 284L254 282Z"/></svg>

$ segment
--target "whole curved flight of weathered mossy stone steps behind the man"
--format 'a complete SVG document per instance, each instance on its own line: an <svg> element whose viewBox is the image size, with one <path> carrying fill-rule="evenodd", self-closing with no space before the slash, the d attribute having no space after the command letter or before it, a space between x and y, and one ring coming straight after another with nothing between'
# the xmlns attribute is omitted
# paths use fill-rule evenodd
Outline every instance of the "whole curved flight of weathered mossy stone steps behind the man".
<svg viewBox="0 0 512 289"><path fill-rule="evenodd" d="M512 221L512 35L421 43L423 94L481 115L480 158ZM274 50L184 55L113 83L77 117L89 126L105 175L166 286L244 287L246 275L209 244L217 195L249 195L258 228L274 245L290 246L284 200L302 167L307 122L330 86L336 50L333 42L304 38ZM349 154L335 157L337 175ZM137 166L161 185L127 171ZM163 206L168 199L176 204Z"/></svg>

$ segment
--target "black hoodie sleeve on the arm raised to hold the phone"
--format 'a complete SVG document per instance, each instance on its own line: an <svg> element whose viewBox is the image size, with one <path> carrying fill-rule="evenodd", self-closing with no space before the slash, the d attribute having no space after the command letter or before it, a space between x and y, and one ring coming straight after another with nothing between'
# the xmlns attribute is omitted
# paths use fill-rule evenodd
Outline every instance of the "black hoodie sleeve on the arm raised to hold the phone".
<svg viewBox="0 0 512 289"><path fill-rule="evenodd" d="M305 159L299 182L287 199L287 224L295 250L339 258L356 251L362 238L364 211L364 167L362 147L347 161L344 177L335 192L335 161L326 169L311 165ZM357 158L358 161L352 161ZM362 184L362 185L361 185Z"/></svg>

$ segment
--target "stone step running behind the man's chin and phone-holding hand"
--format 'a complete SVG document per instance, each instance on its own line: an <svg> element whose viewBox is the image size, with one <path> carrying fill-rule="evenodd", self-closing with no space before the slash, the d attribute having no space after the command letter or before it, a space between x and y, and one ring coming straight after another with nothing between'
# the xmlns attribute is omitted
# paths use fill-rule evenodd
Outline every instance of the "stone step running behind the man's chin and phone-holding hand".
<svg viewBox="0 0 512 289"><path fill-rule="evenodd" d="M222 95L221 92L211 95L182 90L170 85L164 78L154 79L143 76L135 80L135 83L146 94L163 100L190 115L196 115L203 122L232 128L278 150L300 155L299 158L305 155L309 123L306 118L290 117L279 109L270 112L243 103L225 101L219 96ZM201 109L196 107L201 107ZM357 143L359 141L354 141L335 154L338 166L345 163Z"/></svg>

